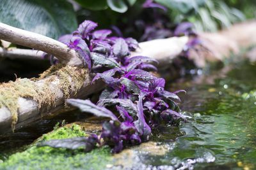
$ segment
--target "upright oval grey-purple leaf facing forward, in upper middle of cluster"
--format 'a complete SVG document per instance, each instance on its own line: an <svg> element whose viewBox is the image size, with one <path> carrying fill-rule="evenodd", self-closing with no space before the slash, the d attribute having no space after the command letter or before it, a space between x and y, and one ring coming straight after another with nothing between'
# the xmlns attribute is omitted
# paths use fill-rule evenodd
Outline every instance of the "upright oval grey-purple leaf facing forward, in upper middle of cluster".
<svg viewBox="0 0 256 170"><path fill-rule="evenodd" d="M116 39L115 44L113 45L113 54L119 59L129 55L128 45L125 43L124 38Z"/></svg>

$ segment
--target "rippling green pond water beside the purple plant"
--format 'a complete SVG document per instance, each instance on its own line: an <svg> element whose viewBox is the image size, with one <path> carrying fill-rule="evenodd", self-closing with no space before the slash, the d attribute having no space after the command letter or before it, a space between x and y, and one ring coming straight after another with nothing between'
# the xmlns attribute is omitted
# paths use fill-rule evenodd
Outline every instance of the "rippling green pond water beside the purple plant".
<svg viewBox="0 0 256 170"><path fill-rule="evenodd" d="M117 155L109 162L109 169L256 169L256 66L240 63L168 88L187 90L181 106L187 122L155 130L151 141L159 150L136 146L130 155ZM72 122L79 118L65 119ZM46 130L31 132L32 137L50 131L47 125L52 127L60 120L45 120L37 127ZM8 144L2 139L4 148ZM14 146L15 138L12 141ZM22 142L31 143L31 138Z"/></svg>

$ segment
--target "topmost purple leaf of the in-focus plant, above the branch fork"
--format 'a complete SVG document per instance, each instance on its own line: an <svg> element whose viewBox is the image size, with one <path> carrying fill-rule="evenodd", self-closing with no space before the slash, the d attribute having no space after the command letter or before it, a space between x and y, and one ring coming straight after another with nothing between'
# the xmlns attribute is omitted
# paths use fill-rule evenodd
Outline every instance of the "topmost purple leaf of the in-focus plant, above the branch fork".
<svg viewBox="0 0 256 170"><path fill-rule="evenodd" d="M81 38L86 39L88 38L88 35L90 34L90 32L95 29L95 27L97 27L98 24L96 24L95 22L92 22L90 20L84 20L84 22L82 22L77 31L73 32L73 35L78 35L81 36Z"/></svg>

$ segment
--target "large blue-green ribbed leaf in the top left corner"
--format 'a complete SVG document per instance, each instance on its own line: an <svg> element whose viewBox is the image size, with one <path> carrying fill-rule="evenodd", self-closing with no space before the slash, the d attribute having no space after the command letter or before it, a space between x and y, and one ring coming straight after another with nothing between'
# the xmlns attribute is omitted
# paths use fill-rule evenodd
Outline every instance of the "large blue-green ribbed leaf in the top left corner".
<svg viewBox="0 0 256 170"><path fill-rule="evenodd" d="M55 39L77 28L73 6L65 0L0 0L0 22Z"/></svg>

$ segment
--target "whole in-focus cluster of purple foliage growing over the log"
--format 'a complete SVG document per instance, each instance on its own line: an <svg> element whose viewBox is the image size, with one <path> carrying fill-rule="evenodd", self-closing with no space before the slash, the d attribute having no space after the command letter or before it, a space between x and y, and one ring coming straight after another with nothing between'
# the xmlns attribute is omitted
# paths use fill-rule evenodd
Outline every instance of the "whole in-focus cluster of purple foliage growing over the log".
<svg viewBox="0 0 256 170"><path fill-rule="evenodd" d="M88 69L96 72L93 81L102 80L107 88L99 101L68 99L67 103L97 117L109 118L102 125L100 139L120 152L126 145L147 141L151 128L160 124L172 124L180 115L177 92L164 90L165 81L148 71L156 71L157 60L145 56L131 57L138 48L132 38L109 37L110 30L93 31L95 22L86 20L73 34L62 36L60 41L81 54ZM109 110L109 109L111 110ZM92 150L100 139L92 134L88 138L45 141L40 146L77 148L86 146Z"/></svg>

